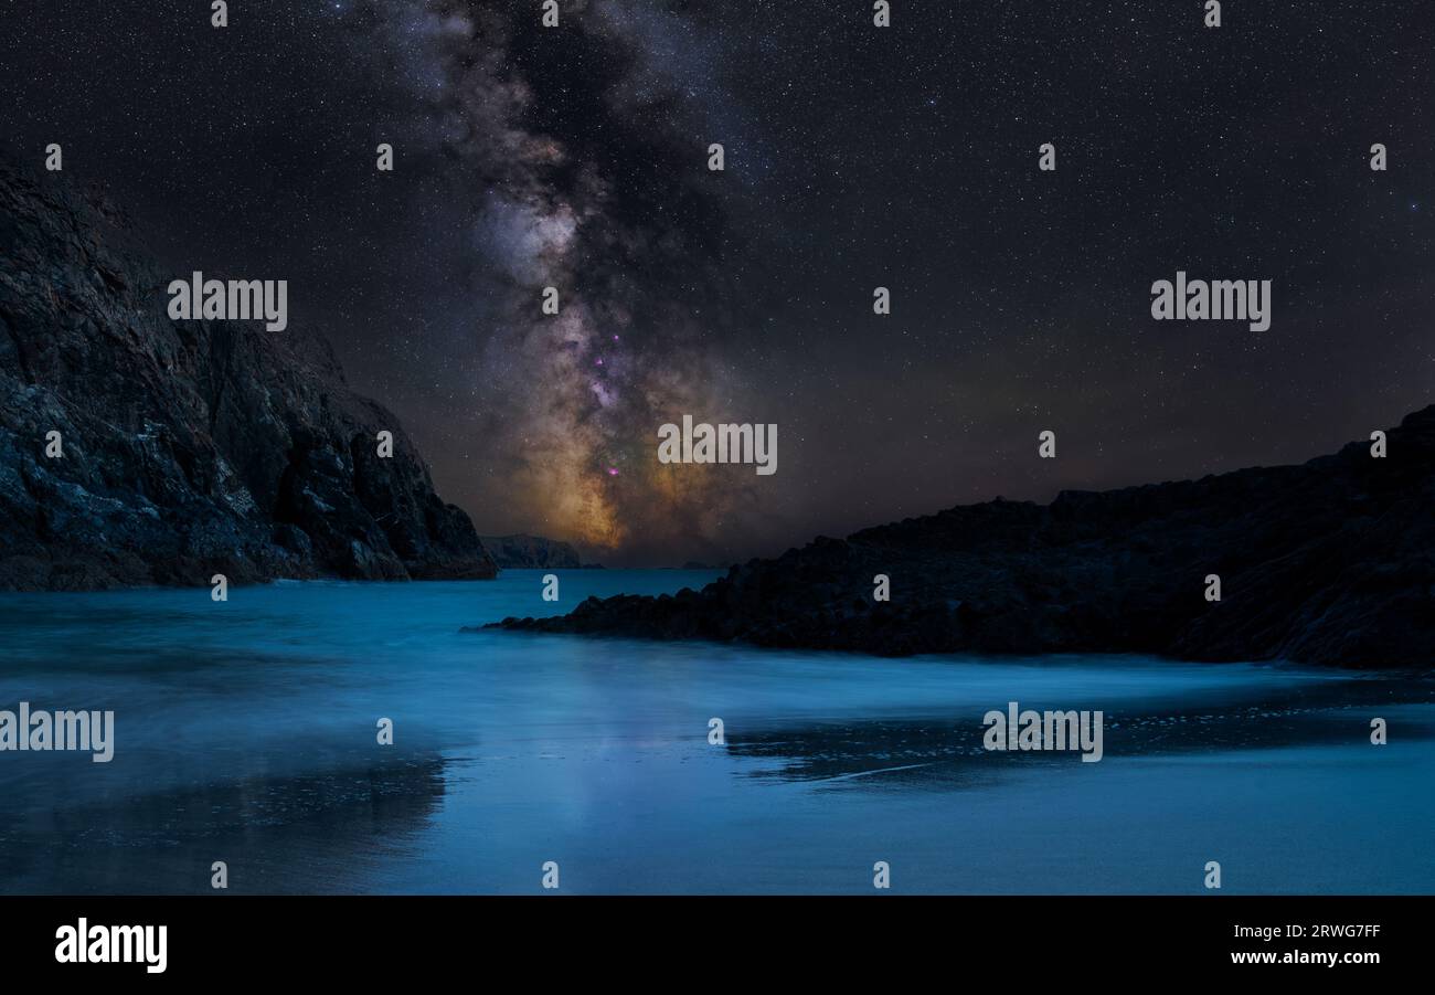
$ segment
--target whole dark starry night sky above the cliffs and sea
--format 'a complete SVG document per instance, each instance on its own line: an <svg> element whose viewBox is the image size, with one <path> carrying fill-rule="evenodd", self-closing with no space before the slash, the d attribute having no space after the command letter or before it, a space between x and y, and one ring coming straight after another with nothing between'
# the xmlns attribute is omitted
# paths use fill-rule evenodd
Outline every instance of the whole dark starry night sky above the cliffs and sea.
<svg viewBox="0 0 1435 995"><path fill-rule="evenodd" d="M1435 399L1435 4L1223 6L9 0L0 152L60 142L177 274L287 279L481 533L723 563ZM1177 270L1271 280L1271 327L1154 322ZM659 465L683 414L776 424L778 472Z"/></svg>

